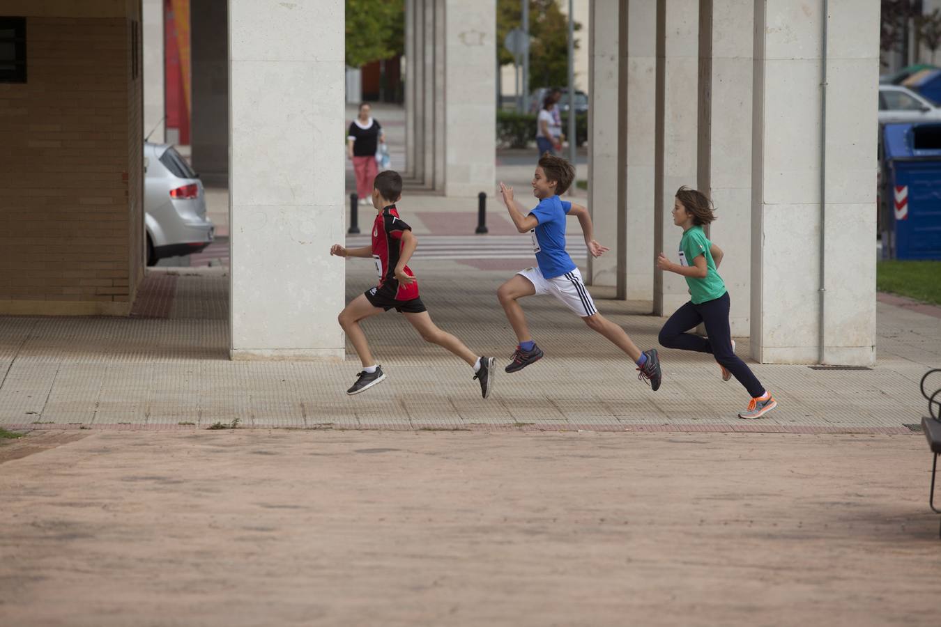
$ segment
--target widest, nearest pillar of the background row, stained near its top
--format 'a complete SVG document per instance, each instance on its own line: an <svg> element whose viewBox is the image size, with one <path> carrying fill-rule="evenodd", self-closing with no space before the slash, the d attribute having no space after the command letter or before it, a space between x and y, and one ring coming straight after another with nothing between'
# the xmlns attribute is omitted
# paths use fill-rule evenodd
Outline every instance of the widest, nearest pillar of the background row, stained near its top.
<svg viewBox="0 0 941 627"><path fill-rule="evenodd" d="M490 195L496 177L496 0L444 0L444 4L444 193Z"/></svg>

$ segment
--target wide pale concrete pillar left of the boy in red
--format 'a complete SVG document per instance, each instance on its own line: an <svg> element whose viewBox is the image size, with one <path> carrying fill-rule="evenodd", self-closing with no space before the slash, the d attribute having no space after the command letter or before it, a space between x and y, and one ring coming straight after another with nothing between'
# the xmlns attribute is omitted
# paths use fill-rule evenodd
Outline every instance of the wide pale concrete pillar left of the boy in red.
<svg viewBox="0 0 941 627"><path fill-rule="evenodd" d="M343 358L343 6L230 0L233 359Z"/></svg>

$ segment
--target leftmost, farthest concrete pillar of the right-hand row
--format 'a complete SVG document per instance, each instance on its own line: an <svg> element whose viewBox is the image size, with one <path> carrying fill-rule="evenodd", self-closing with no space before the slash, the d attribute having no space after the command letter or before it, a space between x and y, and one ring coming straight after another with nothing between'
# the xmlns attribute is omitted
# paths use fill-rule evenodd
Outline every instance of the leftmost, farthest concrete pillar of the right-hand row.
<svg viewBox="0 0 941 627"><path fill-rule="evenodd" d="M626 4L626 3L622 3ZM588 280L592 285L617 286L624 298L623 274L624 196L618 194L624 178L624 162L618 161L618 144L624 133L618 63L621 19L616 3L593 2L588 14L588 209L598 241L611 251L588 258ZM619 267L622 269L618 273Z"/></svg>

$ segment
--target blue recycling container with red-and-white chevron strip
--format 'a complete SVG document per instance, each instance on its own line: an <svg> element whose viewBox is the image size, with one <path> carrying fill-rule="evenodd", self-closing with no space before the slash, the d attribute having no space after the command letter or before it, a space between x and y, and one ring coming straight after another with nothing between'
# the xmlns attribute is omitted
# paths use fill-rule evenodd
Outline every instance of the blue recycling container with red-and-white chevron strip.
<svg viewBox="0 0 941 627"><path fill-rule="evenodd" d="M883 133L892 257L941 259L941 123L886 124Z"/></svg>

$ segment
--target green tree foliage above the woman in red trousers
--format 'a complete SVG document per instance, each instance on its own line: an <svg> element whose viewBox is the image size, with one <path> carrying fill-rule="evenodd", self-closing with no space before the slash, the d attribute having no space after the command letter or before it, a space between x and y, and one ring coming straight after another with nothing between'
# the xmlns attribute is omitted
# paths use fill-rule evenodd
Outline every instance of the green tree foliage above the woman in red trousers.
<svg viewBox="0 0 941 627"><path fill-rule="evenodd" d="M405 54L405 0L346 0L346 65Z"/></svg>

